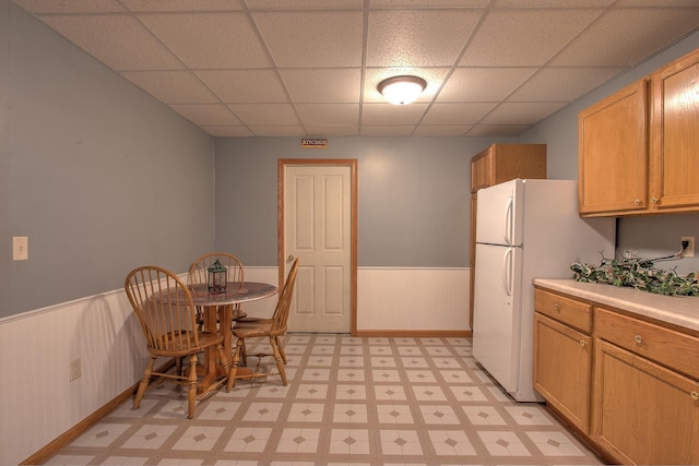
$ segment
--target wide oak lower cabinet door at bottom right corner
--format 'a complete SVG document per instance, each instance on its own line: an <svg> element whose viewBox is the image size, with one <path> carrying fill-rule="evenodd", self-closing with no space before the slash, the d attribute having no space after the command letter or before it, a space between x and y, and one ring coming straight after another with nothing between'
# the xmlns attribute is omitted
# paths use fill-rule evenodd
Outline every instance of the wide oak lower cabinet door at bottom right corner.
<svg viewBox="0 0 699 466"><path fill-rule="evenodd" d="M699 383L595 339L593 440L624 464L699 463Z"/></svg>

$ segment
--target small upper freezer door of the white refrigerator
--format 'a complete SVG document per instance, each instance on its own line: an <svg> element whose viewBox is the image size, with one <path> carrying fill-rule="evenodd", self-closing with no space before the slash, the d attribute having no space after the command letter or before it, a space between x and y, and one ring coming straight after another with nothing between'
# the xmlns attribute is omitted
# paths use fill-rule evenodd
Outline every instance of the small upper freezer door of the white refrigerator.
<svg viewBox="0 0 699 466"><path fill-rule="evenodd" d="M476 242L521 246L524 183L507 181L478 191Z"/></svg>

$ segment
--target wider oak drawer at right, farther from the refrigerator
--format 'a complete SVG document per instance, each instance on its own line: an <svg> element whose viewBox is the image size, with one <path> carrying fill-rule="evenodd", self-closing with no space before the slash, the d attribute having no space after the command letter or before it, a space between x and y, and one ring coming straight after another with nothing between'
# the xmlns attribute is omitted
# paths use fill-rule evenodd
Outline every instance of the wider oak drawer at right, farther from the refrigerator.
<svg viewBox="0 0 699 466"><path fill-rule="evenodd" d="M594 322L597 337L699 379L699 338L602 308Z"/></svg>

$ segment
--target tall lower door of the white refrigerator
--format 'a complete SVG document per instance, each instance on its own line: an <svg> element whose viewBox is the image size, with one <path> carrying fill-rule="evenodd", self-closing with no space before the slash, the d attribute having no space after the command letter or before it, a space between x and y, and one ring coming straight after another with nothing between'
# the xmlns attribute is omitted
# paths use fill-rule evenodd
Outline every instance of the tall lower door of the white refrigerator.
<svg viewBox="0 0 699 466"><path fill-rule="evenodd" d="M518 389L522 250L476 244L473 356L508 393Z"/></svg>

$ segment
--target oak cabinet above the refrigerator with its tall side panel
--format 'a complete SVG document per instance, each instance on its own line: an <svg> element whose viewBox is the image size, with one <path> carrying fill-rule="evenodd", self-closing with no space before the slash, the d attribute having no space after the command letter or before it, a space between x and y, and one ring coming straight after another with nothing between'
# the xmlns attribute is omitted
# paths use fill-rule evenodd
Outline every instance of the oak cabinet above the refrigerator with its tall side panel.
<svg viewBox="0 0 699 466"><path fill-rule="evenodd" d="M477 191L516 178L546 178L546 144L493 144L471 158L471 295L469 325L473 330L476 271Z"/></svg>

